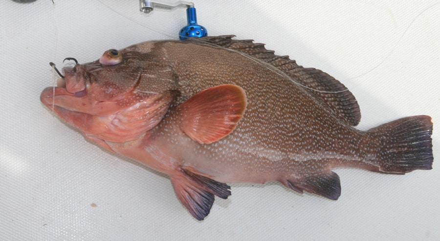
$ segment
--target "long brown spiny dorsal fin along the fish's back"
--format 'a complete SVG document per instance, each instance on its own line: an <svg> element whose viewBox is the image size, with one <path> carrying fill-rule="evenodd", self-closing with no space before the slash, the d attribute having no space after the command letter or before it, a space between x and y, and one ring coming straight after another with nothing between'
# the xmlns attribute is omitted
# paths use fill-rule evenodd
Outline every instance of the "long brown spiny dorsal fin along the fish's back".
<svg viewBox="0 0 440 241"><path fill-rule="evenodd" d="M235 36L205 37L196 41L233 49L273 65L294 81L310 88L307 88L307 91L329 106L341 120L352 126L359 123L361 118L359 105L353 94L341 82L321 70L304 68L295 60L290 60L288 56L277 56L274 51L265 49L263 43L254 43L253 40L232 40L233 37Z"/></svg>

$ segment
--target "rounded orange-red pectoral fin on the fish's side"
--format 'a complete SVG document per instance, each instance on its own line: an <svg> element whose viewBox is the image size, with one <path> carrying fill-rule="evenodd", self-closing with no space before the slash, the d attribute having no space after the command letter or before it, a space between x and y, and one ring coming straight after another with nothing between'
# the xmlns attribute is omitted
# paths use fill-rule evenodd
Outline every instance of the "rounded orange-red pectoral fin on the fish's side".
<svg viewBox="0 0 440 241"><path fill-rule="evenodd" d="M247 101L244 90L223 84L202 90L177 107L181 128L199 143L219 141L242 119Z"/></svg>

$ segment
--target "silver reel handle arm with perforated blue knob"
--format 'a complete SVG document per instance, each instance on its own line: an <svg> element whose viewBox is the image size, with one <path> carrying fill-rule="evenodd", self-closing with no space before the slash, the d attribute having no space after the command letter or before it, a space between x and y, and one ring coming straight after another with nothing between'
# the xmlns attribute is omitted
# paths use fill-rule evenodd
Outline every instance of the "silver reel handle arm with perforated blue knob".
<svg viewBox="0 0 440 241"><path fill-rule="evenodd" d="M201 38L208 36L206 28L197 24L196 8L194 7L193 2L178 1L173 5L170 5L156 1L139 0L139 11L143 13L148 14L153 11L155 7L168 10L186 7L186 20L188 21L188 24L179 31L178 35L180 40L185 40L191 37Z"/></svg>

